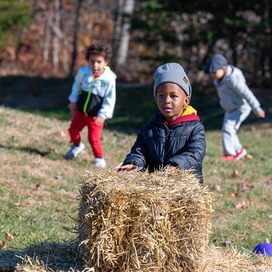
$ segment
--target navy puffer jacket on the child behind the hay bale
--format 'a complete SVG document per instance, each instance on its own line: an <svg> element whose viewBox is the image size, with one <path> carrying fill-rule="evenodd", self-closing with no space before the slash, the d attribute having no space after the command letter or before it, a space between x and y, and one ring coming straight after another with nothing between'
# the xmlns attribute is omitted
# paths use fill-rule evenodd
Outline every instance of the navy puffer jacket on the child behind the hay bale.
<svg viewBox="0 0 272 272"><path fill-rule="evenodd" d="M166 165L179 169L195 169L202 178L202 161L206 151L205 129L199 117L192 114L168 128L161 114L155 115L138 133L136 142L123 165L135 164L150 172L161 170ZM183 116L180 118L182 119ZM188 121L189 119L189 121Z"/></svg>

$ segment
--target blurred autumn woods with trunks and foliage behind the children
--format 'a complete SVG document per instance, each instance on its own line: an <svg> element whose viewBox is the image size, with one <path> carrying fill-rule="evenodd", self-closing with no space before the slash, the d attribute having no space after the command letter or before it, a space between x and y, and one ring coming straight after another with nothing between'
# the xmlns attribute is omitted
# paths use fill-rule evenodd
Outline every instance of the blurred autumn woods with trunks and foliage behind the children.
<svg viewBox="0 0 272 272"><path fill-rule="evenodd" d="M193 81L214 53L256 84L271 84L272 0L0 0L0 62L73 75L85 47L113 47L112 69L147 82L162 63L181 63Z"/></svg>

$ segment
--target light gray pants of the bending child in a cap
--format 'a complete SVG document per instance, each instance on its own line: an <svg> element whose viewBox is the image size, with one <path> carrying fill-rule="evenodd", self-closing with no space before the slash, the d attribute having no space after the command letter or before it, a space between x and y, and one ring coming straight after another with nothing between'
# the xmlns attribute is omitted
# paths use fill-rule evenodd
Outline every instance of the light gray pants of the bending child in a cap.
<svg viewBox="0 0 272 272"><path fill-rule="evenodd" d="M242 148L237 136L237 130L251 112L249 105L243 105L238 110L225 112L222 126L222 144L224 155L235 156Z"/></svg>

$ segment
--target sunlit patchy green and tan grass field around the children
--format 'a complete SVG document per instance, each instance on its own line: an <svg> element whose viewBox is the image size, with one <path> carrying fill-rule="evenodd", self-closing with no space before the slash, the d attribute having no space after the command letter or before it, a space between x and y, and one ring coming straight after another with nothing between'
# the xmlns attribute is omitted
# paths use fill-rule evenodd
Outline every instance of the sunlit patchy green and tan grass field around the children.
<svg viewBox="0 0 272 272"><path fill-rule="evenodd" d="M130 106L122 101L118 102L116 118L109 122L102 135L107 169L122 162L139 126L148 120L141 116L140 107L134 119L122 115ZM260 122L251 116L239 131L244 148L251 155L239 162L218 160L222 152L217 126L222 117L220 109L210 119L200 111L204 125L209 128L203 163L204 185L217 196L210 244L248 253L259 243L272 242L271 103L268 101L267 105L270 105L266 107L269 118ZM150 111L155 108L152 104ZM65 160L70 148L67 131L70 117L0 106L1 260L8 262L10 254L15 256L29 249L46 256L52 250L48 246L57 245L61 249L75 237L78 185L86 171L96 169L86 130L82 133L85 151L73 161ZM7 239L6 233L14 239Z"/></svg>

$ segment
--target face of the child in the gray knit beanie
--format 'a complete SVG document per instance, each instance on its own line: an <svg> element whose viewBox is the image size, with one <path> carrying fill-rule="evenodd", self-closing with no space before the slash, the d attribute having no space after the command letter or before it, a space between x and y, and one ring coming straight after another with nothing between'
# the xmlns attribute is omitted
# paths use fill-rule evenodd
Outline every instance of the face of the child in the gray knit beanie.
<svg viewBox="0 0 272 272"><path fill-rule="evenodd" d="M168 123L182 115L183 107L188 106L190 100L190 96L174 83L162 83L157 90L157 104Z"/></svg>

